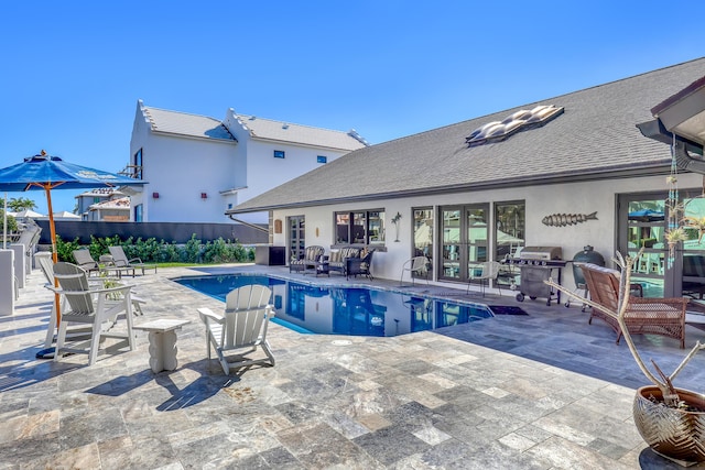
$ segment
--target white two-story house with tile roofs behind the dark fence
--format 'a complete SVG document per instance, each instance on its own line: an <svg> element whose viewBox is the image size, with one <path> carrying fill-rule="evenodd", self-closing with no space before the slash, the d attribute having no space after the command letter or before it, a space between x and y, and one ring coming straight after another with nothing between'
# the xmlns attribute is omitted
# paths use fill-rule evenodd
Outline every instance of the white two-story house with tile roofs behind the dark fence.
<svg viewBox="0 0 705 470"><path fill-rule="evenodd" d="M341 132L236 113L225 119L147 107L139 100L130 174L132 220L232 222L229 208L367 143ZM246 216L267 223L268 214Z"/></svg>

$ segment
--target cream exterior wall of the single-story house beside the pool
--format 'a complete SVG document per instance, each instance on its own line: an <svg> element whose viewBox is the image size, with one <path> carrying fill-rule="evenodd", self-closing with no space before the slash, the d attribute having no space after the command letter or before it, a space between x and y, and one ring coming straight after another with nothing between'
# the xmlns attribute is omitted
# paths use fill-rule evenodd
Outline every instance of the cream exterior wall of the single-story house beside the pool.
<svg viewBox="0 0 705 470"><path fill-rule="evenodd" d="M679 176L679 185L682 188L699 188L701 184L701 175L682 174ZM437 236L438 218L435 209L438 206L524 200L527 207L525 245L561 247L563 258L571 260L575 253L583 250L583 247L590 244L605 256L608 265L611 265L610 260L616 250L617 195L665 190L668 190L665 176L617 178L276 210L274 219L281 219L282 222L285 222L286 217L305 216L306 245L319 244L325 247L328 252L334 241L333 214L335 211L383 209L387 228L384 249L387 251L380 251L372 256L372 273L376 277L394 280L399 278L403 263L412 255L412 208L434 208L434 256L437 260L436 250L440 237ZM699 189L693 189L693 192L698 194ZM399 229L400 241L394 242L391 218L398 211L402 215ZM542 219L552 214L592 214L594 211L597 211L597 220L566 227L549 227L542 223ZM316 229L318 229L318 237L316 237ZM492 237L491 231L490 237ZM275 245L288 245L286 230L283 230L282 233L275 233L273 242ZM435 271L437 269L434 269ZM438 284L458 286L458 283L446 281L438 282ZM575 285L571 269L563 270L563 284Z"/></svg>

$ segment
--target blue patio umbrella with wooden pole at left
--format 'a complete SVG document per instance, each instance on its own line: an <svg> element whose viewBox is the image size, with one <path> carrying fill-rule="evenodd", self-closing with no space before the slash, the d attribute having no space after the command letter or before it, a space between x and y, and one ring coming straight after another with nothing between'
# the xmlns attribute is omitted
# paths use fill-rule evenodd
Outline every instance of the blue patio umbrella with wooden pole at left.
<svg viewBox="0 0 705 470"><path fill-rule="evenodd" d="M41 154L24 159L24 162L0 170L0 192L44 190L48 209L48 226L52 236L52 258L58 261L56 253L56 229L54 227L54 210L52 209L52 189L82 189L101 186L135 186L147 182L128 176L116 175L101 170L75 165L51 156L42 151ZM58 296L56 296L58 297ZM58 299L56 302L56 325L61 321Z"/></svg>

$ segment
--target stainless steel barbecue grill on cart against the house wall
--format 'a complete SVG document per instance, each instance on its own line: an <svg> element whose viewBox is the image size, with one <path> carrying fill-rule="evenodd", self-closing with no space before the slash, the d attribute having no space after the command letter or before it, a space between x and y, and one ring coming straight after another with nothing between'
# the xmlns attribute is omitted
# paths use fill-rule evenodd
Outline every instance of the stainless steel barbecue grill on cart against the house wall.
<svg viewBox="0 0 705 470"><path fill-rule="evenodd" d="M561 284L561 271L566 264L562 256L561 247L525 247L521 250L520 258L511 260L511 263L519 265L521 270L517 300L523 302L524 296L532 300L542 297L546 299L546 305L551 305L554 292L544 281L553 277ZM555 299L556 303L561 303L560 291L555 293Z"/></svg>

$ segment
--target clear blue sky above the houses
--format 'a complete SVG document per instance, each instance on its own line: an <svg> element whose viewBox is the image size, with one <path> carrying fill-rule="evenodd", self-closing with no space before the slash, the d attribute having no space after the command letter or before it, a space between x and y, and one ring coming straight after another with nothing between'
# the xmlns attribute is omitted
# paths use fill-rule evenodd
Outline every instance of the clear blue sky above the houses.
<svg viewBox="0 0 705 470"><path fill-rule="evenodd" d="M380 143L701 57L703 18L699 0L8 0L0 167L45 149L118 172L138 99Z"/></svg>

